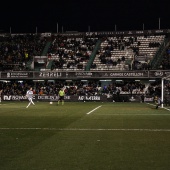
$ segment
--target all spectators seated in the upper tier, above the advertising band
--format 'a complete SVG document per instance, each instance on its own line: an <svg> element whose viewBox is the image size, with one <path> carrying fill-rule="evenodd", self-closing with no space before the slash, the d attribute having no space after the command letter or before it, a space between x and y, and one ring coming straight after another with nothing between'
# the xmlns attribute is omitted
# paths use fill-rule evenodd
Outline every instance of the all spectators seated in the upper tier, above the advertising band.
<svg viewBox="0 0 170 170"><path fill-rule="evenodd" d="M99 47L96 51L96 55L99 55L100 64L113 65L125 63L129 57L133 58L131 63L131 69L152 69L148 65L148 59L145 63L138 61L138 55L143 53L142 40L151 41L147 42L145 47L146 55L149 54L149 49L159 49L161 45L159 42L152 42L154 36L151 39L144 36L97 36L97 35L56 35L51 37L42 36L41 34L16 34L16 35L3 35L0 36L0 69L1 71L13 70L22 71L29 70L29 62L34 62L34 56L48 56L49 60L53 60L51 70L55 69L74 69L85 70L85 67L93 53L97 42L100 40L106 46ZM156 36L155 36L156 37ZM157 40L157 41L158 41ZM156 38L155 38L156 41ZM102 43L102 44L103 44ZM144 44L143 44L144 45ZM122 55L120 52L131 49L132 54ZM119 54L112 54L112 52ZM168 49L166 55L162 56L162 69L169 67ZM148 54L147 54L148 53ZM156 53L156 52L155 52ZM130 55L130 56L129 56ZM153 55L153 54L152 54ZM134 58L135 57L135 58ZM167 62L168 61L168 62ZM47 68L47 63L45 63ZM146 65L147 64L147 65ZM91 63L91 68L97 68L95 62ZM33 68L34 69L34 68Z"/></svg>

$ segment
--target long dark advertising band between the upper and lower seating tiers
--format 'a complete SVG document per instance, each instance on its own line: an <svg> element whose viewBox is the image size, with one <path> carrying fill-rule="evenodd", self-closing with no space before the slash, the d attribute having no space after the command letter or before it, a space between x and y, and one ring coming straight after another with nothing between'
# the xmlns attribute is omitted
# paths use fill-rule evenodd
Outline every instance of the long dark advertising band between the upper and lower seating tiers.
<svg viewBox="0 0 170 170"><path fill-rule="evenodd" d="M163 78L170 70L135 71L12 71L0 72L0 79L91 79L91 78Z"/></svg>

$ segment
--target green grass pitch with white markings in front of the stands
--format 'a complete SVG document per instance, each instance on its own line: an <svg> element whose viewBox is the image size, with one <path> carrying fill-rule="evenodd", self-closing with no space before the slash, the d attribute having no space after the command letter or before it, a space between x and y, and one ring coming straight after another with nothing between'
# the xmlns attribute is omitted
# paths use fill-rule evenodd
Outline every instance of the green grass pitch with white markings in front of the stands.
<svg viewBox="0 0 170 170"><path fill-rule="evenodd" d="M2 170L168 170L170 111L145 103L0 104Z"/></svg>

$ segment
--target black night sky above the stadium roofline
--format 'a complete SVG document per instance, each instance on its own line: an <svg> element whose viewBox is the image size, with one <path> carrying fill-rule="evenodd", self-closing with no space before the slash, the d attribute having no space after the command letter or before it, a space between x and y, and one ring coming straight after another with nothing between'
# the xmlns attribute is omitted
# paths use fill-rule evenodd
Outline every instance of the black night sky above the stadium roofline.
<svg viewBox="0 0 170 170"><path fill-rule="evenodd" d="M170 28L169 0L43 1L3 1L1 32L57 32L57 23L59 32Z"/></svg>

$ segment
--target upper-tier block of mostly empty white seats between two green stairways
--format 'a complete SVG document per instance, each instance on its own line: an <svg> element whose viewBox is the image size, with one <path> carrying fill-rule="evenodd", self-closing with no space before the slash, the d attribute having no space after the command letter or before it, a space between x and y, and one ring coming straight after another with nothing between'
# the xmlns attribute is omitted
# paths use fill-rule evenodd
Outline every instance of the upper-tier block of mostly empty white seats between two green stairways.
<svg viewBox="0 0 170 170"><path fill-rule="evenodd" d="M148 69L165 35L107 37L101 43L93 70Z"/></svg>

